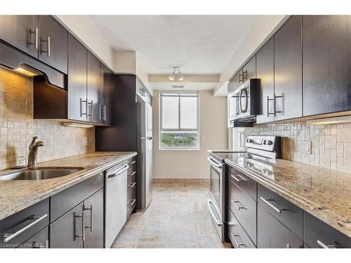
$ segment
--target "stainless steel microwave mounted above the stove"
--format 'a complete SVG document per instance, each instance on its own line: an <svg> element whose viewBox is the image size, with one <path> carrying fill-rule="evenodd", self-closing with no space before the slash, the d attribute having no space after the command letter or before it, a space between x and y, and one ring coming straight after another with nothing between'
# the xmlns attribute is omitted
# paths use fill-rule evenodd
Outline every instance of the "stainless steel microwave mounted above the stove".
<svg viewBox="0 0 351 263"><path fill-rule="evenodd" d="M252 123L260 114L260 79L249 79L228 94L228 121Z"/></svg>

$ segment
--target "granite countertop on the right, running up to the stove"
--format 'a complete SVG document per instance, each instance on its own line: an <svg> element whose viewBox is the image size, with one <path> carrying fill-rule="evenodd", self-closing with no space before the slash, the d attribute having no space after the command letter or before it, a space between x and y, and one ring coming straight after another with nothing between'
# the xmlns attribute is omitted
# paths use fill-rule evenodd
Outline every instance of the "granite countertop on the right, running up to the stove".
<svg viewBox="0 0 351 263"><path fill-rule="evenodd" d="M351 237L351 175L317 166L275 159L265 162L270 175L263 175L239 160L239 154L225 163L238 168L264 187L286 198L326 224Z"/></svg>

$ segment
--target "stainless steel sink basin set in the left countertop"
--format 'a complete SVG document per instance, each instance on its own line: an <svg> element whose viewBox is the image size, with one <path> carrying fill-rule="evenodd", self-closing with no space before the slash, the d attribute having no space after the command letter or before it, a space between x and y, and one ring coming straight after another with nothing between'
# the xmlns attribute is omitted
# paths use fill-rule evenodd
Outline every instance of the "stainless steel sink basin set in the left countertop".
<svg viewBox="0 0 351 263"><path fill-rule="evenodd" d="M79 170L83 170L81 167L39 167L39 168L27 168L7 175L0 175L0 180L44 180L71 175L77 173Z"/></svg>

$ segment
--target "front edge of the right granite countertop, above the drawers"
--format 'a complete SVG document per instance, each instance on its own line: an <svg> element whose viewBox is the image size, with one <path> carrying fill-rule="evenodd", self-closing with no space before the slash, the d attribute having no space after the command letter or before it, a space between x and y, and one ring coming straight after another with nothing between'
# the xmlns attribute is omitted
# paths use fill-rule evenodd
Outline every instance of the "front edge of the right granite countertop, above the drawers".
<svg viewBox="0 0 351 263"><path fill-rule="evenodd" d="M325 209L318 210L317 207L320 207L320 205L318 205L317 203L314 203L312 200L303 198L302 196L299 196L298 194L293 193L288 189L280 187L279 184L274 184L274 182L267 180L260 175L255 175L251 171L245 170L237 166L229 159L225 159L225 163L227 163L227 165L229 166L232 166L233 168L238 169L245 175L249 176L251 179L255 180L256 182L262 184L264 187L267 187L268 189L273 191L275 194L278 194L279 196L286 198L286 200L290 201L294 205L297 205L299 208L305 210L307 213L310 213L314 217L317 217L319 220L322 220L324 223L328 224L329 226L337 229L341 233L351 238L350 226L347 229L342 225L340 225L340 224L345 224L345 221L347 220L345 217L337 215L336 213L333 213L330 210L325 210ZM326 217L325 215L328 215L328 216ZM333 220L327 220L326 218L333 218ZM343 222L343 223L339 224L338 222Z"/></svg>

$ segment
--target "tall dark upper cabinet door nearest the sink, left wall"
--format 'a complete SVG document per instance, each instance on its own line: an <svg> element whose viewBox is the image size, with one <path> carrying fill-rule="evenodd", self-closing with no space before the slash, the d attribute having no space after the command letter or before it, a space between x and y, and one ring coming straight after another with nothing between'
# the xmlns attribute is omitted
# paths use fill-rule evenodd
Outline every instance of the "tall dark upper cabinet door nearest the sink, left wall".
<svg viewBox="0 0 351 263"><path fill-rule="evenodd" d="M86 61L87 50L84 46L68 36L68 119L86 121Z"/></svg>

